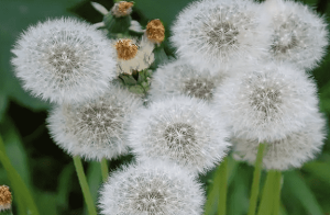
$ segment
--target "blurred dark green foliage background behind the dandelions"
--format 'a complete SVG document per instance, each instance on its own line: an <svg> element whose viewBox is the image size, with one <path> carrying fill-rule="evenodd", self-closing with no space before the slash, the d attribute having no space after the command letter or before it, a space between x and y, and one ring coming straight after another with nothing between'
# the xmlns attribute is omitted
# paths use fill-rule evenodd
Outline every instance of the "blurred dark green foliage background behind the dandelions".
<svg viewBox="0 0 330 215"><path fill-rule="evenodd" d="M165 24L166 38L176 14L191 0L136 0L132 18L145 25L152 19ZM324 15L330 23L329 0L301 0ZM96 0L107 9L112 0ZM89 1L81 0L0 0L0 134L6 152L18 170L38 206L42 215L87 214L72 158L50 138L45 118L50 104L32 98L14 78L10 59L15 39L30 24L47 18L78 16L90 23L102 20ZM174 48L164 42L167 55ZM320 109L329 120L330 114L330 52L312 72L320 97ZM110 162L111 171L131 160L131 156ZM88 183L96 201L101 184L98 162L84 162ZM253 168L229 160L228 214L244 215L249 207ZM265 180L262 176L262 183ZM201 176L207 194L213 201L207 204L217 212L218 190L213 188L215 170ZM0 165L0 185L11 185ZM15 200L15 196L13 196ZM16 212L15 201L13 212ZM283 215L330 215L330 143L326 140L322 154L299 170L284 172L282 190Z"/></svg>

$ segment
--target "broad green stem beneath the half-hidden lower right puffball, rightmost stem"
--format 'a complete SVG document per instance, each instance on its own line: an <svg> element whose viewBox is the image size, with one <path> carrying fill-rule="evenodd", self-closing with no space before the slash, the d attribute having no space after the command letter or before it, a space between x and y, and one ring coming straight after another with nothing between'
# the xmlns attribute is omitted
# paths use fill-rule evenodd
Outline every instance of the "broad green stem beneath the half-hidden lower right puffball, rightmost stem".
<svg viewBox="0 0 330 215"><path fill-rule="evenodd" d="M258 207L257 215L273 215L274 205L274 183L276 178L276 171L270 170L267 173L266 182L263 189L263 195Z"/></svg>

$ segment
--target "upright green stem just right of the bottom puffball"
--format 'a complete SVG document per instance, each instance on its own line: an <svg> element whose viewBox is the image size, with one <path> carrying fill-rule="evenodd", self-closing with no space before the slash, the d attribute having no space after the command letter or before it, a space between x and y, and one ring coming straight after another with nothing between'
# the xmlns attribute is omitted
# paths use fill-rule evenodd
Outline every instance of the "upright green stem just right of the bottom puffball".
<svg viewBox="0 0 330 215"><path fill-rule="evenodd" d="M228 158L226 157L219 167L219 203L218 203L218 215L226 215L226 203L227 203L227 176L228 176Z"/></svg>

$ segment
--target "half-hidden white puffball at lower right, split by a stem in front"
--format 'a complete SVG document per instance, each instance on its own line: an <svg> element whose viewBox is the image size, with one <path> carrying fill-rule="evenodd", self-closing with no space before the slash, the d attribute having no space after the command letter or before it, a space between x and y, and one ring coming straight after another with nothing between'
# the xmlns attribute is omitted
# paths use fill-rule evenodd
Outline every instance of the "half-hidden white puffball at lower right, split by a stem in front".
<svg viewBox="0 0 330 215"><path fill-rule="evenodd" d="M266 143L263 166L266 169L287 170L300 168L306 161L320 152L326 138L326 121L316 113L306 126L286 137ZM239 160L255 163L258 147L257 139L234 138L234 157Z"/></svg>

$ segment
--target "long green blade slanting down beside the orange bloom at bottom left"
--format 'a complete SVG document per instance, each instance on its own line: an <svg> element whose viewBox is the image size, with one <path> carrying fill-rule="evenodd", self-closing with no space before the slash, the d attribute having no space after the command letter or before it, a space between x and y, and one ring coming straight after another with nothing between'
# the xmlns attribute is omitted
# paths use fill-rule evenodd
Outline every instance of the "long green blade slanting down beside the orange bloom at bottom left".
<svg viewBox="0 0 330 215"><path fill-rule="evenodd" d="M0 161L6 169L10 181L12 183L12 188L14 193L18 195L18 206L20 214L26 214L26 207L30 210L32 215L38 215L37 207L33 201L33 197L25 185L23 179L19 174L19 172L11 165L10 159L6 155L4 144L0 136Z"/></svg>

